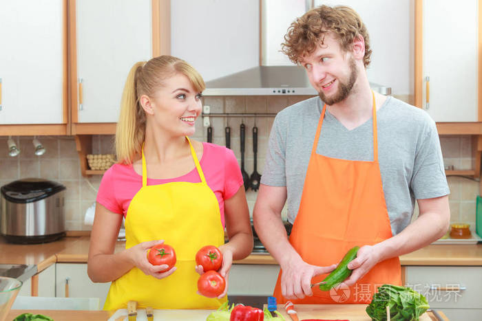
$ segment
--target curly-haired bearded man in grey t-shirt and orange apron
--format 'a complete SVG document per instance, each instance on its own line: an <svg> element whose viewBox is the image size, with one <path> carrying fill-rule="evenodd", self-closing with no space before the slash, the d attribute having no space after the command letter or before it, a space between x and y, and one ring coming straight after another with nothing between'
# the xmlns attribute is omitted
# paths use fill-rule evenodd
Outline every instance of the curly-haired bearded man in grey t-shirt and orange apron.
<svg viewBox="0 0 482 321"><path fill-rule="evenodd" d="M379 285L401 284L398 256L448 229L437 128L425 111L370 90L368 32L351 8L306 12L291 24L283 52L306 69L319 97L284 109L271 129L253 219L282 269L274 296L368 303ZM410 223L415 200L419 217ZM346 297L311 287L355 245L353 273L340 285Z"/></svg>

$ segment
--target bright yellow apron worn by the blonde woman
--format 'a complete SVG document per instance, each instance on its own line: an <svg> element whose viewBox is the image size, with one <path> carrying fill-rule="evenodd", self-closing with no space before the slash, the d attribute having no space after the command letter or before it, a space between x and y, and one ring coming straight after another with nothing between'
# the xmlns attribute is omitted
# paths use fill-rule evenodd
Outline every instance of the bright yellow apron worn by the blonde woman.
<svg viewBox="0 0 482 321"><path fill-rule="evenodd" d="M159 280L132 268L112 282L104 310L125 309L129 300L137 301L141 308L215 309L227 300L196 294L196 253L205 245L224 244L224 229L218 199L206 183L189 138L187 142L201 181L147 186L143 151L143 187L132 199L125 219L126 249L145 241L165 240L176 250L177 269Z"/></svg>

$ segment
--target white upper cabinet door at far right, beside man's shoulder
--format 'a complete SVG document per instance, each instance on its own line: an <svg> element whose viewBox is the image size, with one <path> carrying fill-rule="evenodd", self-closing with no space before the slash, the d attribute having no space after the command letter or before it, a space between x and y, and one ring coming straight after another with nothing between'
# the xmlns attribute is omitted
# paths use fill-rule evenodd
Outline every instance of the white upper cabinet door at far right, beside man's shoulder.
<svg viewBox="0 0 482 321"><path fill-rule="evenodd" d="M478 121L478 3L423 0L423 108L436 122Z"/></svg>

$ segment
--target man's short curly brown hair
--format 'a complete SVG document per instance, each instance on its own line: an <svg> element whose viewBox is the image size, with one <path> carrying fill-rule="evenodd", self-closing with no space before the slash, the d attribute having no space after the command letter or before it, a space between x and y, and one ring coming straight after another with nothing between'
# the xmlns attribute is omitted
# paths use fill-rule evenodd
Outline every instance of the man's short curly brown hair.
<svg viewBox="0 0 482 321"><path fill-rule="evenodd" d="M352 48L355 38L362 36L365 41L363 63L365 67L370 65L372 50L368 31L359 14L346 5L320 5L297 18L284 35L281 51L293 63L300 64L306 54L315 51L320 41L323 44L328 32L335 34L345 52Z"/></svg>

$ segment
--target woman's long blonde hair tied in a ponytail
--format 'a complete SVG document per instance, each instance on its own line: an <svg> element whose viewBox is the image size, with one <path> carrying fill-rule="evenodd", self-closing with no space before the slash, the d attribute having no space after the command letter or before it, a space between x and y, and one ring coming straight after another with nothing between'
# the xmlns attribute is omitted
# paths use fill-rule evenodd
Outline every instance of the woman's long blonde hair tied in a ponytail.
<svg viewBox="0 0 482 321"><path fill-rule="evenodd" d="M158 56L135 63L125 81L121 100L121 114L116 129L116 154L121 164L132 164L140 155L145 140L146 115L140 106L140 96L152 97L163 81L175 74L189 78L198 92L206 85L201 75L189 63L174 56Z"/></svg>

